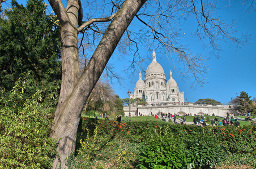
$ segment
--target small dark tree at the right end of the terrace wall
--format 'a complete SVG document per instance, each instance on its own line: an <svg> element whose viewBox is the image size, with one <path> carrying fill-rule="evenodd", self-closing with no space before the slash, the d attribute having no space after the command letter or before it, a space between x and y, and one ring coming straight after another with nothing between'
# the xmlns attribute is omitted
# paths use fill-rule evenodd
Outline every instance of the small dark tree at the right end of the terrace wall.
<svg viewBox="0 0 256 169"><path fill-rule="evenodd" d="M242 113L253 113L254 112L254 101L250 100L251 96L248 95L245 91L240 92L238 98L238 109Z"/></svg>

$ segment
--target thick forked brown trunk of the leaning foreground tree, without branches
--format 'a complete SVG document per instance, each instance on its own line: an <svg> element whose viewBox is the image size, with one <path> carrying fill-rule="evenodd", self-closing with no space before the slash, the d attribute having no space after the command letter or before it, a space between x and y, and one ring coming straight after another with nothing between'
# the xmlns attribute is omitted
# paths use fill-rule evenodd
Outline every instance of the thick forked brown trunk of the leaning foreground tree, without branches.
<svg viewBox="0 0 256 169"><path fill-rule="evenodd" d="M75 55L78 56L76 53L77 51L75 51L75 48L77 50L77 37L74 35L75 31L69 32L71 28L62 28L62 38L64 38L62 39L62 46L65 47L62 48L62 50L67 50L62 52L62 58L68 60L71 57L72 61L66 62L66 60L64 60L65 63L62 64L62 66L64 66L62 69L65 70L62 75L62 81L64 80L65 82L62 83L61 92L65 92L65 94L60 98L52 127L52 136L56 139L60 139L57 148L59 158L55 159L53 168L59 168L60 164L61 168L66 167L65 162L67 161L67 158L69 158L69 155L75 150L76 133L84 104L86 103L86 100L88 99L96 82L99 80L101 73L103 73L110 56L113 54L117 43L122 37L122 34L125 32L127 26L131 23L131 20L133 20L135 14L145 2L146 0L126 0L123 3L121 9L117 12L117 15L106 30L103 39L101 39L99 46L97 46L91 60L86 66L86 69L84 69L84 72L77 83L75 82L76 70L72 72L72 69L76 68L73 63L73 61L76 61ZM56 3L51 3L51 6L55 4ZM63 26L72 26L72 24L64 22L62 27ZM66 30L68 32L65 32ZM73 38L65 41L65 38L69 38L70 36L76 37L76 41L72 40ZM75 52L75 55L73 55L72 52ZM74 65L69 68L69 64ZM70 72L68 70L70 70ZM66 71L69 73L66 73ZM70 77L70 75L74 75L75 77ZM76 85L73 87L74 84Z"/></svg>

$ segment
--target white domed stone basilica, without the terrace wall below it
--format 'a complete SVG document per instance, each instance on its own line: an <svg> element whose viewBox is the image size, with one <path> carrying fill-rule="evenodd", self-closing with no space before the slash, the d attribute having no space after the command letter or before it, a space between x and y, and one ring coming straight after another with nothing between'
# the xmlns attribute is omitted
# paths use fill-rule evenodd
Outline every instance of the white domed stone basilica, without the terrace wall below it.
<svg viewBox="0 0 256 169"><path fill-rule="evenodd" d="M158 103L184 103L184 92L178 90L176 81L170 71L170 79L167 82L164 69L156 61L156 53L153 51L152 63L148 65L144 81L139 73L139 80L136 82L134 94L131 99L142 98L148 104Z"/></svg>

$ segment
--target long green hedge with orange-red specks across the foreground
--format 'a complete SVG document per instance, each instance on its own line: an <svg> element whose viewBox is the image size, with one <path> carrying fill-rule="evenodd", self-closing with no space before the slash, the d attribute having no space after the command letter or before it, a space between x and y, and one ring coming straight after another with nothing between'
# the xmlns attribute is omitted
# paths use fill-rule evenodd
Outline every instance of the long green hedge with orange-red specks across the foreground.
<svg viewBox="0 0 256 169"><path fill-rule="evenodd" d="M83 134L79 137L86 139L84 136L89 134L88 152L94 145L99 148L90 152L94 154L88 160L78 154L70 166L83 163L86 165L78 168L104 168L105 164L112 165L110 168L211 168L220 163L227 166L246 162L249 166L256 165L255 125L199 127L155 121L117 123L103 120L95 124L93 120L84 118ZM97 139L93 141L94 138ZM241 158L234 161L235 157Z"/></svg>

